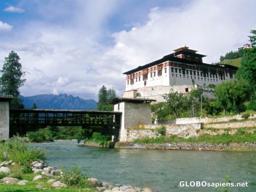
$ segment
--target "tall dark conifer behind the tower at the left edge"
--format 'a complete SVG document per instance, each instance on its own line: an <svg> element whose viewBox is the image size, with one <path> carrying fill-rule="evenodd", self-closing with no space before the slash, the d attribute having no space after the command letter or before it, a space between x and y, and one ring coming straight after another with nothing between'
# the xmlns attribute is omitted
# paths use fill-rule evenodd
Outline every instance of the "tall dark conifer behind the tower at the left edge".
<svg viewBox="0 0 256 192"><path fill-rule="evenodd" d="M14 51L11 51L8 57L5 57L2 72L0 77L1 94L12 95L14 98L10 102L10 108L24 108L22 101L19 97L19 88L24 85L26 79L25 72L22 71L20 57Z"/></svg>

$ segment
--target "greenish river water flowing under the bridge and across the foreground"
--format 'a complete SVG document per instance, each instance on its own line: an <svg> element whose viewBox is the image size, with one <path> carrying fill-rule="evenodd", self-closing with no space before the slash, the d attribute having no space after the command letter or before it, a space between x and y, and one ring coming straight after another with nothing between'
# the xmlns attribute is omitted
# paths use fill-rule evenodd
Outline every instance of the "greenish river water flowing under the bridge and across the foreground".
<svg viewBox="0 0 256 192"><path fill-rule="evenodd" d="M100 181L164 192L216 191L212 187L179 187L179 182L223 182L229 174L232 182L248 182L248 187L229 191L256 191L255 152L102 149L79 146L76 141L33 146L48 150L47 164L59 168L79 166Z"/></svg>

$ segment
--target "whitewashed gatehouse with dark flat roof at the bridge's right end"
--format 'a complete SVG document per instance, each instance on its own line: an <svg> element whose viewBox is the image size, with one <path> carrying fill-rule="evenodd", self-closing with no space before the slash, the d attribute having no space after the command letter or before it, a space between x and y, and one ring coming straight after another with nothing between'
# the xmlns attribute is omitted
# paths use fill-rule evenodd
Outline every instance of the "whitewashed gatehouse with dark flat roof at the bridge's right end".
<svg viewBox="0 0 256 192"><path fill-rule="evenodd" d="M113 98L115 112L122 112L119 141L126 141L127 128L152 124L150 102L143 98Z"/></svg>

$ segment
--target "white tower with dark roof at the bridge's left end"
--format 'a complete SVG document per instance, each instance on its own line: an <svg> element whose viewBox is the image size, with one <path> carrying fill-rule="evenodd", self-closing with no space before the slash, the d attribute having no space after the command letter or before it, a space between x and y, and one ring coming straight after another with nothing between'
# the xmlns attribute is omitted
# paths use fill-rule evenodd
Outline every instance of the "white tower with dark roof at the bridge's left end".
<svg viewBox="0 0 256 192"><path fill-rule="evenodd" d="M9 139L9 101L10 95L0 95L0 140Z"/></svg>

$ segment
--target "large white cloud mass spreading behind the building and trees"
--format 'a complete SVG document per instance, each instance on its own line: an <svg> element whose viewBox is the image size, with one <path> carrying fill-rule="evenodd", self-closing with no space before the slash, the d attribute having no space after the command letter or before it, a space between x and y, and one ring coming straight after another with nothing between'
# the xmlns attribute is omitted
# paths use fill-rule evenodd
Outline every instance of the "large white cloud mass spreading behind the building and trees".
<svg viewBox="0 0 256 192"><path fill-rule="evenodd" d="M13 41L1 43L1 59L12 49L21 57L27 72L22 95L60 92L97 98L103 84L121 95L125 71L185 44L208 55L205 62L217 62L221 54L247 43L256 28L255 14L248 15L255 1L192 1L181 8L152 8L146 24L134 21L136 28L112 34L114 45L106 46L98 39L106 36L104 26L117 6L113 1L78 2L72 24L26 23Z"/></svg>

